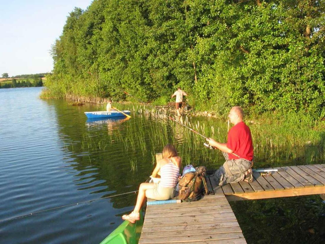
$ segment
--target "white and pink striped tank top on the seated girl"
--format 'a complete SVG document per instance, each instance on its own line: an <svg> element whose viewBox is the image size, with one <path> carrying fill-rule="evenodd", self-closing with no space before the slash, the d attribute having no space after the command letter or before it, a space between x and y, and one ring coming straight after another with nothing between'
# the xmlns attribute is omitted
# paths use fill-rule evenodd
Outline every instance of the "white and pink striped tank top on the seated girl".
<svg viewBox="0 0 325 244"><path fill-rule="evenodd" d="M159 185L163 187L174 187L178 183L179 168L169 161L160 169L161 180Z"/></svg>

